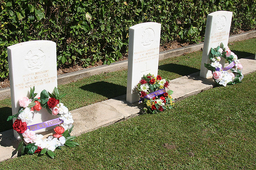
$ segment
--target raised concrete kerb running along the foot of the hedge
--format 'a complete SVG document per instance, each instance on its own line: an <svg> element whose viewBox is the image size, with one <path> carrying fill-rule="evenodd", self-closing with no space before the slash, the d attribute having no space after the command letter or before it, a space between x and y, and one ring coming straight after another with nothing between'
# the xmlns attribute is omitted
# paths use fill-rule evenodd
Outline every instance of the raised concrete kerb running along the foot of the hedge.
<svg viewBox="0 0 256 170"><path fill-rule="evenodd" d="M249 31L241 34L231 35L229 36L228 42L242 41L242 40L247 40L255 37L256 37L256 30L253 30L253 31ZM203 46L204 46L204 43L201 42L199 44L162 51L159 53L159 60L164 60L166 58L180 56L182 54L187 54L194 51L199 51L203 48ZM127 69L127 66L128 66L128 60L124 60L116 63L111 63L110 65L101 65L101 66L92 67L84 70L74 71L71 73L61 74L61 75L58 75L58 85L67 84L84 77L89 77L89 76L101 74L104 72L113 72L117 70ZM0 89L0 100L3 100L7 97L11 97L10 87Z"/></svg>

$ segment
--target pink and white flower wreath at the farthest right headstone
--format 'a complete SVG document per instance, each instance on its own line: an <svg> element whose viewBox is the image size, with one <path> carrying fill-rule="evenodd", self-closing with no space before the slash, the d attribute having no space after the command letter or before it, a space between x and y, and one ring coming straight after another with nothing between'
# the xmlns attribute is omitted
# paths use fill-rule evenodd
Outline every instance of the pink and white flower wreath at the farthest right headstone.
<svg viewBox="0 0 256 170"><path fill-rule="evenodd" d="M219 63L221 56L228 61L228 66L225 68L222 68L222 65ZM228 46L224 46L223 43L220 43L220 46L217 48L211 48L209 59L211 64L204 63L204 67L212 71L212 77L218 85L226 86L240 83L244 78L242 64ZM228 73L227 70L229 69L231 73Z"/></svg>

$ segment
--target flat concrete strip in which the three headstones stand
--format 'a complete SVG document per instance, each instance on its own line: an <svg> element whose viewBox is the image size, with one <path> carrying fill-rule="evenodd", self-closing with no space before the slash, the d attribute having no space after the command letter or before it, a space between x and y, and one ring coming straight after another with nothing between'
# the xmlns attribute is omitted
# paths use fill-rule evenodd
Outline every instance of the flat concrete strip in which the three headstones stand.
<svg viewBox="0 0 256 170"><path fill-rule="evenodd" d="M256 60L254 55L239 59L244 69L243 74L249 74L256 71ZM227 64L226 64L227 65ZM169 90L173 90L172 97L175 100L181 100L191 95L195 95L204 90L216 86L212 78L201 78L199 72L183 76L170 81ZM130 104L125 101L126 95L109 99L92 105L78 108L70 111L74 119L74 129L72 135L78 136L82 133L108 126L140 113L143 106L137 102ZM49 136L52 131L47 131L43 135ZM17 148L19 141L13 137L13 130L7 130L0 133L0 161L17 157Z"/></svg>

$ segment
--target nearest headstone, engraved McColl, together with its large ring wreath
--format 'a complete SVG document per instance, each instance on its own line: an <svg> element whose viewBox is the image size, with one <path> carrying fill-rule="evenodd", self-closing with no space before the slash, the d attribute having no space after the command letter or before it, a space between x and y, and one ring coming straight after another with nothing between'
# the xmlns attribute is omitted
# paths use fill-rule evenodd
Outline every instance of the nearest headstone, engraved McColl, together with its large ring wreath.
<svg viewBox="0 0 256 170"><path fill-rule="evenodd" d="M28 41L8 49L14 136L21 139L21 154L39 153L54 158L60 146L79 145L70 133L73 117L60 102L66 94L57 89L56 43ZM57 127L56 127L57 126ZM56 133L44 138L40 132Z"/></svg>

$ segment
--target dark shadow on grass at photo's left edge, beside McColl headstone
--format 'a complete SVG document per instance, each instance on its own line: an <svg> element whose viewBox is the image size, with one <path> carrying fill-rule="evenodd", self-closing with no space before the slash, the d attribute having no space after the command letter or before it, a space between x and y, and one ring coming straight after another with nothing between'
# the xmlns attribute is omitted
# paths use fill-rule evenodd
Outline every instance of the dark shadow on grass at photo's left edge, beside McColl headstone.
<svg viewBox="0 0 256 170"><path fill-rule="evenodd" d="M12 129L12 120L6 121L8 116L12 115L12 108L11 107L1 107L0 108L0 132L3 132L5 130Z"/></svg>

